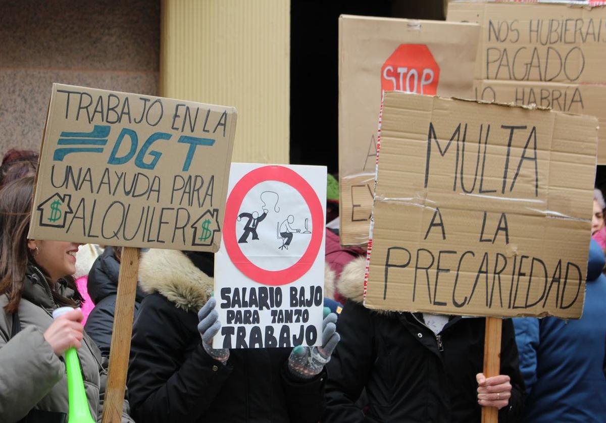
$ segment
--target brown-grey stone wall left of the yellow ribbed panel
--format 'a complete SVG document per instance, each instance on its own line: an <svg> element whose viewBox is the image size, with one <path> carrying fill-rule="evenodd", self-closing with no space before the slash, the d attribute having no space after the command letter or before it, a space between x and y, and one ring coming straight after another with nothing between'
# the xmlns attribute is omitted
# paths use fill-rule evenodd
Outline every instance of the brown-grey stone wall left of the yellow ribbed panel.
<svg viewBox="0 0 606 423"><path fill-rule="evenodd" d="M0 155L38 150L53 82L156 95L159 0L0 0Z"/></svg>

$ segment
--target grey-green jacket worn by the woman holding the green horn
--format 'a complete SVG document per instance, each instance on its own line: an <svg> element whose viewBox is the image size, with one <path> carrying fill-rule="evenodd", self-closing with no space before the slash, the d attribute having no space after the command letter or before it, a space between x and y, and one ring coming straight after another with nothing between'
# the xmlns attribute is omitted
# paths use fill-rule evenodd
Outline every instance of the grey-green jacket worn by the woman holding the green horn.
<svg viewBox="0 0 606 423"><path fill-rule="evenodd" d="M74 294L61 282L58 291L65 297ZM17 422L32 408L68 413L65 365L43 336L52 324L52 312L58 306L37 268L27 269L19 303L21 331L14 337L11 333L13 316L4 311L7 304L7 296L0 296L0 421ZM86 334L78 356L90 411L93 418L101 422L107 371L102 365L99 348ZM132 422L128 417L127 401L122 422Z"/></svg>

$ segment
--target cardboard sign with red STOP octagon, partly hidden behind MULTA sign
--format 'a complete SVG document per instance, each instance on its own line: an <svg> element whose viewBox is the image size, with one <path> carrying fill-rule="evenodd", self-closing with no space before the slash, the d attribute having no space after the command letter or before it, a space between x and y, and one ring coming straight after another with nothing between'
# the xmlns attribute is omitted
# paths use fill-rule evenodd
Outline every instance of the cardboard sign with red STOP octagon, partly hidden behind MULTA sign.
<svg viewBox="0 0 606 423"><path fill-rule="evenodd" d="M366 244L384 90L470 98L479 28L408 19L339 19L341 243Z"/></svg>

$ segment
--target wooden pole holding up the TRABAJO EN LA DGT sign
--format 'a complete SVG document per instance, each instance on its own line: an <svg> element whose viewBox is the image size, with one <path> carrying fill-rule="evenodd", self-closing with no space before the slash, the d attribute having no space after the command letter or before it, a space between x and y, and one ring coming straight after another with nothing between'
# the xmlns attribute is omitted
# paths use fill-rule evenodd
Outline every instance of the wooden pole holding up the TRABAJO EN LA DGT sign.
<svg viewBox="0 0 606 423"><path fill-rule="evenodd" d="M123 247L102 423L120 423L122 421L122 404L124 404L130 338L133 333L138 271L139 248Z"/></svg>

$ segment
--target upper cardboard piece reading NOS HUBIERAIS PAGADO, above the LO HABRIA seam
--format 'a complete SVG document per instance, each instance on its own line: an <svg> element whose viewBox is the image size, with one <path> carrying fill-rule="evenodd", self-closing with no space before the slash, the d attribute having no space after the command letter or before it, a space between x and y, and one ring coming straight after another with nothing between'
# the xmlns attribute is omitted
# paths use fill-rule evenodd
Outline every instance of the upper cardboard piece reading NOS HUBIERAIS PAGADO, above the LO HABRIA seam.
<svg viewBox="0 0 606 423"><path fill-rule="evenodd" d="M524 2L453 2L448 21L478 22L476 78L603 83L606 8Z"/></svg>

